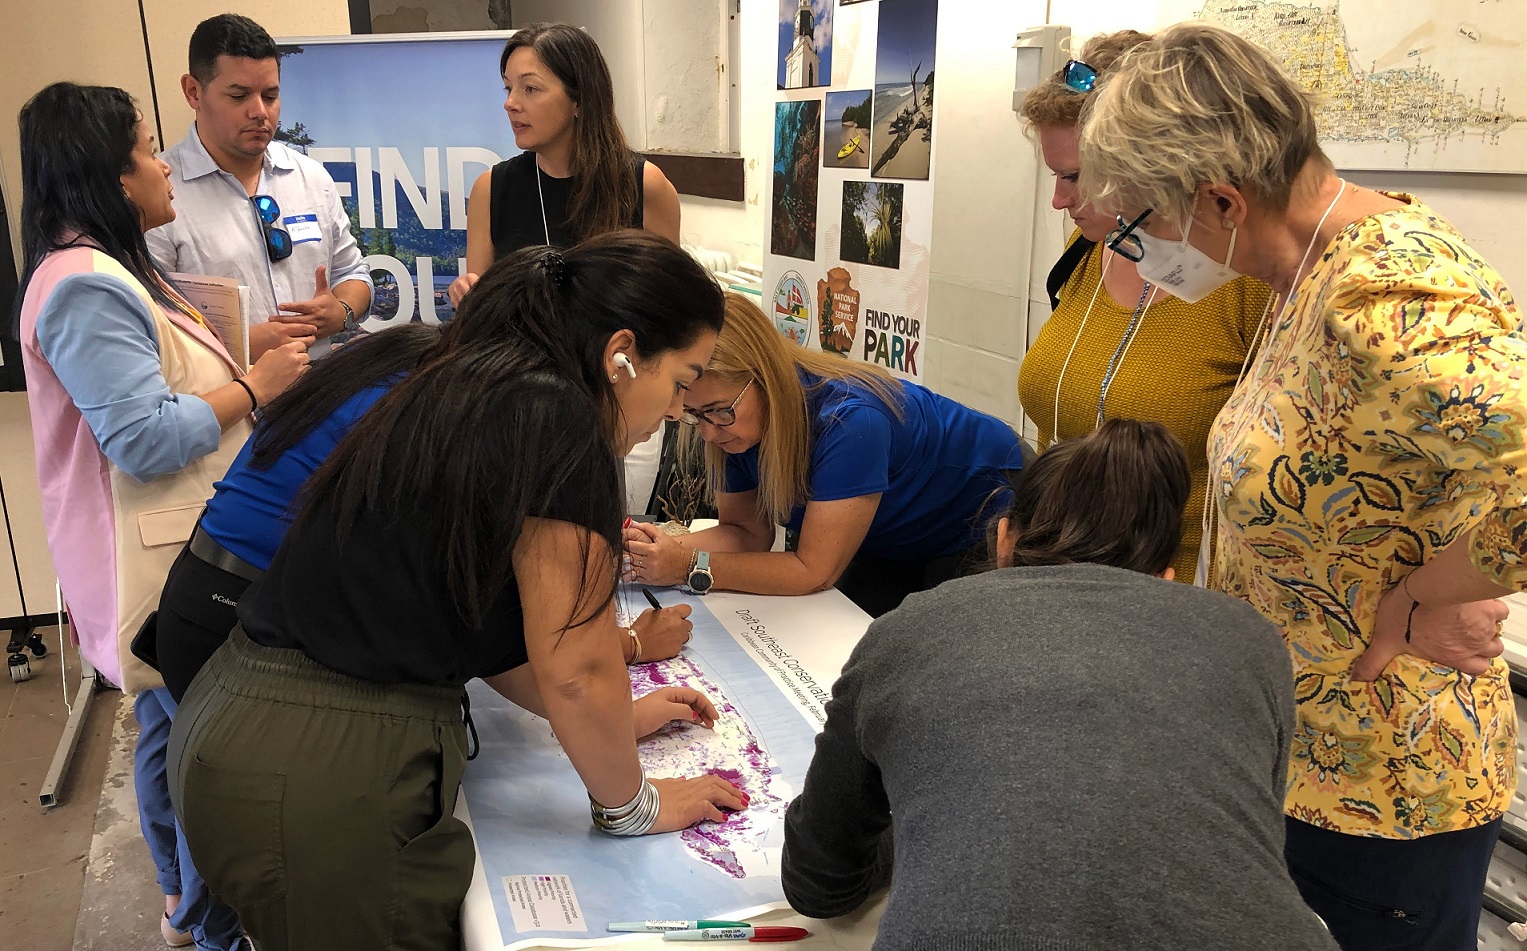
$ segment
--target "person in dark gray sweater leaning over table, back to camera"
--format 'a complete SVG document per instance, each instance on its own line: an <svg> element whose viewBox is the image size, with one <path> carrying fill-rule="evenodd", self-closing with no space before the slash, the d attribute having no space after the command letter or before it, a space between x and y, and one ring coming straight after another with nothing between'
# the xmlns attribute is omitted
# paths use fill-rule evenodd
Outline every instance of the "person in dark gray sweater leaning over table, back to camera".
<svg viewBox="0 0 1527 951"><path fill-rule="evenodd" d="M1289 653L1171 582L1188 492L1182 446L1132 420L1015 473L999 568L909 597L834 685L791 907L889 881L876 951L1336 951L1283 859Z"/></svg>

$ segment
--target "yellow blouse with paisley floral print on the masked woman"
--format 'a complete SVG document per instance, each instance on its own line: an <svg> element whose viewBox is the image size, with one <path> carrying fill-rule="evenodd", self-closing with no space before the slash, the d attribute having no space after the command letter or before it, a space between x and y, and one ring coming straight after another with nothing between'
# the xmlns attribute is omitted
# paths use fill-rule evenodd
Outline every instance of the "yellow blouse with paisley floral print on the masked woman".
<svg viewBox="0 0 1527 951"><path fill-rule="evenodd" d="M1501 276L1409 195L1347 226L1214 424L1215 586L1293 655L1287 814L1417 838L1506 811L1516 713L1500 659L1478 678L1402 655L1350 670L1379 598L1478 528L1472 559L1527 586L1527 369Z"/></svg>

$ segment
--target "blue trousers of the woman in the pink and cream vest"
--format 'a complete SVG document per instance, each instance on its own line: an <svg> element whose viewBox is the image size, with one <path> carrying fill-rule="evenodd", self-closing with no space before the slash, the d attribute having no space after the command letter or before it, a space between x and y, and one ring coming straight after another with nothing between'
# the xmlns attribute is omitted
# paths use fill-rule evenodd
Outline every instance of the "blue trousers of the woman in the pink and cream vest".
<svg viewBox="0 0 1527 951"><path fill-rule="evenodd" d="M169 806L165 751L174 714L176 702L163 687L144 690L133 702L133 716L137 717L137 750L133 754L137 821L144 827L148 853L154 858L160 890L180 896L180 907L169 916L169 925L176 931L189 931L202 951L229 951L243 934L238 916L206 890Z"/></svg>

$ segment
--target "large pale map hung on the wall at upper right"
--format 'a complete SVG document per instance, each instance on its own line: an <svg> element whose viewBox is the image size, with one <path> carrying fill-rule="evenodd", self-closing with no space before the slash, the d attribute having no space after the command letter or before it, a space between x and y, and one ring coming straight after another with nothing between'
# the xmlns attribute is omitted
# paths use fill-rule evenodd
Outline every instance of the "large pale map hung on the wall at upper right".
<svg viewBox="0 0 1527 951"><path fill-rule="evenodd" d="M1519 0L1168 0L1272 52L1322 98L1338 168L1527 171Z"/></svg>

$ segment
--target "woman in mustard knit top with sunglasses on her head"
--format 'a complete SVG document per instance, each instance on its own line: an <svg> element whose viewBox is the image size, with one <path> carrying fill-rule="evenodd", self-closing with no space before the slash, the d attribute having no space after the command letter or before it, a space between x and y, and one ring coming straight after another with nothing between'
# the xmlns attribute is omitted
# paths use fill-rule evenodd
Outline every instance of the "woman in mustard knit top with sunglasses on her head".
<svg viewBox="0 0 1527 951"><path fill-rule="evenodd" d="M1067 247L1095 244L1057 292L1046 321L1019 371L1019 400L1040 434L1040 449L1057 438L1096 429L1106 418L1153 420L1188 449L1193 496L1182 542L1171 560L1177 580L1191 582L1199 562L1209 426L1252 350L1272 292L1237 278L1196 304L1145 281L1135 263L1106 250L1116 221L1077 195L1077 133L1081 107L1098 72L1150 40L1121 31L1093 37L1081 60L1066 64L1023 101L1044 163L1055 172L1051 205L1077 224ZM1057 434L1058 430L1058 434Z"/></svg>

